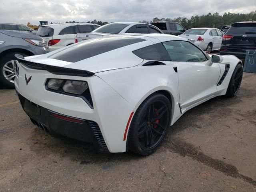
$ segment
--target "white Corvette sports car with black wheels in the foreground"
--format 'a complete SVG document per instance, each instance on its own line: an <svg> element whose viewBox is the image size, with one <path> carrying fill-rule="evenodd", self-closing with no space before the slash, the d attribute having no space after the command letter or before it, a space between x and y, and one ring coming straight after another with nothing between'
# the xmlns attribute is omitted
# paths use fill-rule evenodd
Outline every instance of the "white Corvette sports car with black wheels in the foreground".
<svg viewBox="0 0 256 192"><path fill-rule="evenodd" d="M187 110L236 95L243 73L235 56L210 57L166 34L104 36L17 57L16 91L34 124L98 151L141 155L153 153Z"/></svg>

